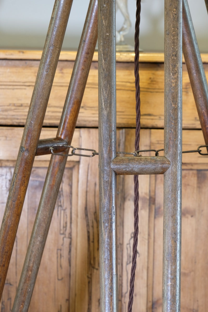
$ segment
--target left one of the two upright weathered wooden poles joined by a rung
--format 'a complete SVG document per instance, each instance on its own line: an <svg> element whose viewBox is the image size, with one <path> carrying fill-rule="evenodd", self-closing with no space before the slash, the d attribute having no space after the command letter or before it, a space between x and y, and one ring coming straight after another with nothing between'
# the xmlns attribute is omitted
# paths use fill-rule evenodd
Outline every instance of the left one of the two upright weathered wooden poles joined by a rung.
<svg viewBox="0 0 208 312"><path fill-rule="evenodd" d="M98 1L100 311L118 310L115 1Z"/></svg>

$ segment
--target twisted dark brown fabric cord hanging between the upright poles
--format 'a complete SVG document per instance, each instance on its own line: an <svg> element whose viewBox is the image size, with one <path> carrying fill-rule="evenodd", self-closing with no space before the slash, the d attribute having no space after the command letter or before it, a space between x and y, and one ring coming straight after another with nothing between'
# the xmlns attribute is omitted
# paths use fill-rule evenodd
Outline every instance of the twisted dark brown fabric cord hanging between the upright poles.
<svg viewBox="0 0 208 312"><path fill-rule="evenodd" d="M139 150L140 139L140 86L139 86L139 24L140 24L141 0L137 0L136 23L135 23L135 58L134 58L134 75L136 87L136 136L135 136L135 151ZM134 175L134 236L133 236L133 255L132 255L132 268L130 278L130 290L128 301L128 312L132 312L133 305L133 292L134 292L134 279L135 270L137 265L137 243L138 243L138 209L139 209L139 182L138 175Z"/></svg>

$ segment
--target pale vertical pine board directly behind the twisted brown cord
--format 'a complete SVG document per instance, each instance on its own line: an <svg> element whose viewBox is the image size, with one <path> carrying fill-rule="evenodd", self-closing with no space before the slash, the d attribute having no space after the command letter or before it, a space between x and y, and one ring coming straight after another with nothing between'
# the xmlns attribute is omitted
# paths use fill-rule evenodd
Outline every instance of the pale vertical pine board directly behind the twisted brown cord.
<svg viewBox="0 0 208 312"><path fill-rule="evenodd" d="M134 129L125 130L125 150L134 148ZM141 129L141 149L150 148L150 130ZM148 154L147 154L148 156ZM149 236L149 175L139 176L139 234L138 261L134 282L134 307L136 310L147 311L148 294L148 236ZM122 312L127 311L129 281L132 264L133 224L134 224L134 188L133 176L124 177L124 223L123 223L123 286Z"/></svg>

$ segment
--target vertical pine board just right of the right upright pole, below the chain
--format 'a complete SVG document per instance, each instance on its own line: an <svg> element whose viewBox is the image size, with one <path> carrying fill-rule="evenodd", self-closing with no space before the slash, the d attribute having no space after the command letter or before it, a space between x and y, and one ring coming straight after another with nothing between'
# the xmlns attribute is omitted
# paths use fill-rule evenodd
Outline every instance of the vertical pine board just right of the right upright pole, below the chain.
<svg viewBox="0 0 208 312"><path fill-rule="evenodd" d="M182 183L182 240L181 240L181 310L193 311L197 289L196 276L196 214L197 171L183 170ZM201 226L201 225L200 225ZM201 237L201 239L203 239ZM199 275L198 275L199 276ZM206 309L205 309L206 310ZM196 309L197 311L197 309ZM203 309L202 309L203 311Z"/></svg>

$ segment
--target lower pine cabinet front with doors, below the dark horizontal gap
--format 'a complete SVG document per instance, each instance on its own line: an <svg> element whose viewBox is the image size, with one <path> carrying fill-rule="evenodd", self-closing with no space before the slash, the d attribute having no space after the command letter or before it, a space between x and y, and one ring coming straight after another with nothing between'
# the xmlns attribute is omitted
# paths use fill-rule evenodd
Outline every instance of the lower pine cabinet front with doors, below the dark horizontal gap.
<svg viewBox="0 0 208 312"><path fill-rule="evenodd" d="M134 129L117 129L117 150L133 151ZM141 148L164 146L162 129L142 129ZM56 129L42 129L53 137ZM0 128L0 215L2 218L22 129ZM200 130L183 130L183 149L203 142ZM98 129L76 129L74 146L98 150ZM152 153L145 153L150 156ZM162 152L161 152L162 155ZM35 158L12 253L1 309L12 307L50 155ZM73 159L73 160L72 160ZM74 161L75 159L75 161ZM208 156L183 154L181 310L206 311L207 215L204 203ZM68 157L49 229L30 312L99 311L98 157ZM71 181L72 179L72 181ZM152 181L154 179L154 181ZM139 245L136 310L162 311L163 175L139 177ZM133 177L117 177L119 312L128 305L133 232ZM197 256L199 254L200 256ZM65 273L66 272L66 273ZM67 295L68 294L68 295ZM65 301L66 300L66 301ZM69 300L69 301L68 301Z"/></svg>

